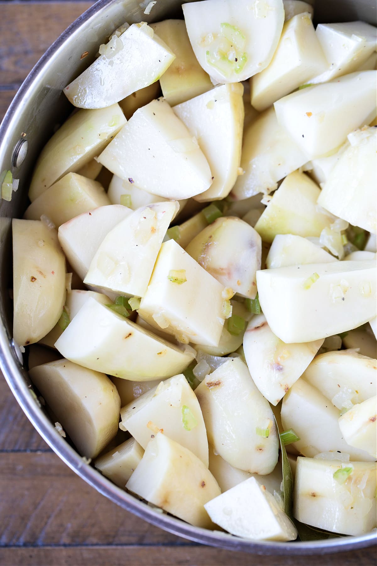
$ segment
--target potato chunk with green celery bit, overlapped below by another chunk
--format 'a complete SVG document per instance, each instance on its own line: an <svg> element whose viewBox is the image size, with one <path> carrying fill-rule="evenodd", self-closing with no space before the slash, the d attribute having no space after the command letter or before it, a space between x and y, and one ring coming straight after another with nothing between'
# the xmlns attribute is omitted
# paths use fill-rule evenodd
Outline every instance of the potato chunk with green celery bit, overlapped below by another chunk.
<svg viewBox="0 0 377 566"><path fill-rule="evenodd" d="M122 407L120 428L145 449L156 431L189 449L208 467L208 441L202 411L184 375L159 385Z"/></svg>

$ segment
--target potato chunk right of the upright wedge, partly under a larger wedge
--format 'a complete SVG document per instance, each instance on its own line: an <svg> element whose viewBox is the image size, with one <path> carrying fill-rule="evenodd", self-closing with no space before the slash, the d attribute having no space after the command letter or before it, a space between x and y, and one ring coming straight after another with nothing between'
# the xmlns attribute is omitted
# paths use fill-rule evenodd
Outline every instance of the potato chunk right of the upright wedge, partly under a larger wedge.
<svg viewBox="0 0 377 566"><path fill-rule="evenodd" d="M229 196L243 200L278 188L278 181L307 162L303 153L280 127L274 108L258 116L244 132L241 169ZM246 211L245 211L246 212Z"/></svg>

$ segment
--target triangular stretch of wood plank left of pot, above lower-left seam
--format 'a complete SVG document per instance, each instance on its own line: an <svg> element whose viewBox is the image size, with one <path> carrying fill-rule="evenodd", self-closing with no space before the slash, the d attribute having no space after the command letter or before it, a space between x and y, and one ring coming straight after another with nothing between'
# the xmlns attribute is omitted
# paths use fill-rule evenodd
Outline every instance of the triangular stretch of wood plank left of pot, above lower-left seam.
<svg viewBox="0 0 377 566"><path fill-rule="evenodd" d="M0 107L2 97L0 96ZM15 400L0 374L0 452L21 450L50 451Z"/></svg>

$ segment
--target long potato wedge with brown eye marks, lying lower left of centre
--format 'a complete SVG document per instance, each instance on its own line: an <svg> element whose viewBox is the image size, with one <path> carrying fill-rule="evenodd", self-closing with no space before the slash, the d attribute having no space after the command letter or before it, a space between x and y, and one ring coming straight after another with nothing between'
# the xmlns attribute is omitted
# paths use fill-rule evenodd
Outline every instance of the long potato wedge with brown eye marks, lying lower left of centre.
<svg viewBox="0 0 377 566"><path fill-rule="evenodd" d="M81 366L133 381L176 375L195 355L189 346L179 349L92 298L55 347Z"/></svg>

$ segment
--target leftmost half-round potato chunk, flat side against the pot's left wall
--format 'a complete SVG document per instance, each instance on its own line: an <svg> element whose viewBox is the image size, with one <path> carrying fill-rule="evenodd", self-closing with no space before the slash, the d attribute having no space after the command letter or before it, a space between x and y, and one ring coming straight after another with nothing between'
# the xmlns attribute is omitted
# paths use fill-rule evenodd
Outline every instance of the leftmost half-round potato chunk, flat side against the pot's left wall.
<svg viewBox="0 0 377 566"><path fill-rule="evenodd" d="M66 261L54 229L40 220L12 220L13 336L19 346L50 332L66 299Z"/></svg>

